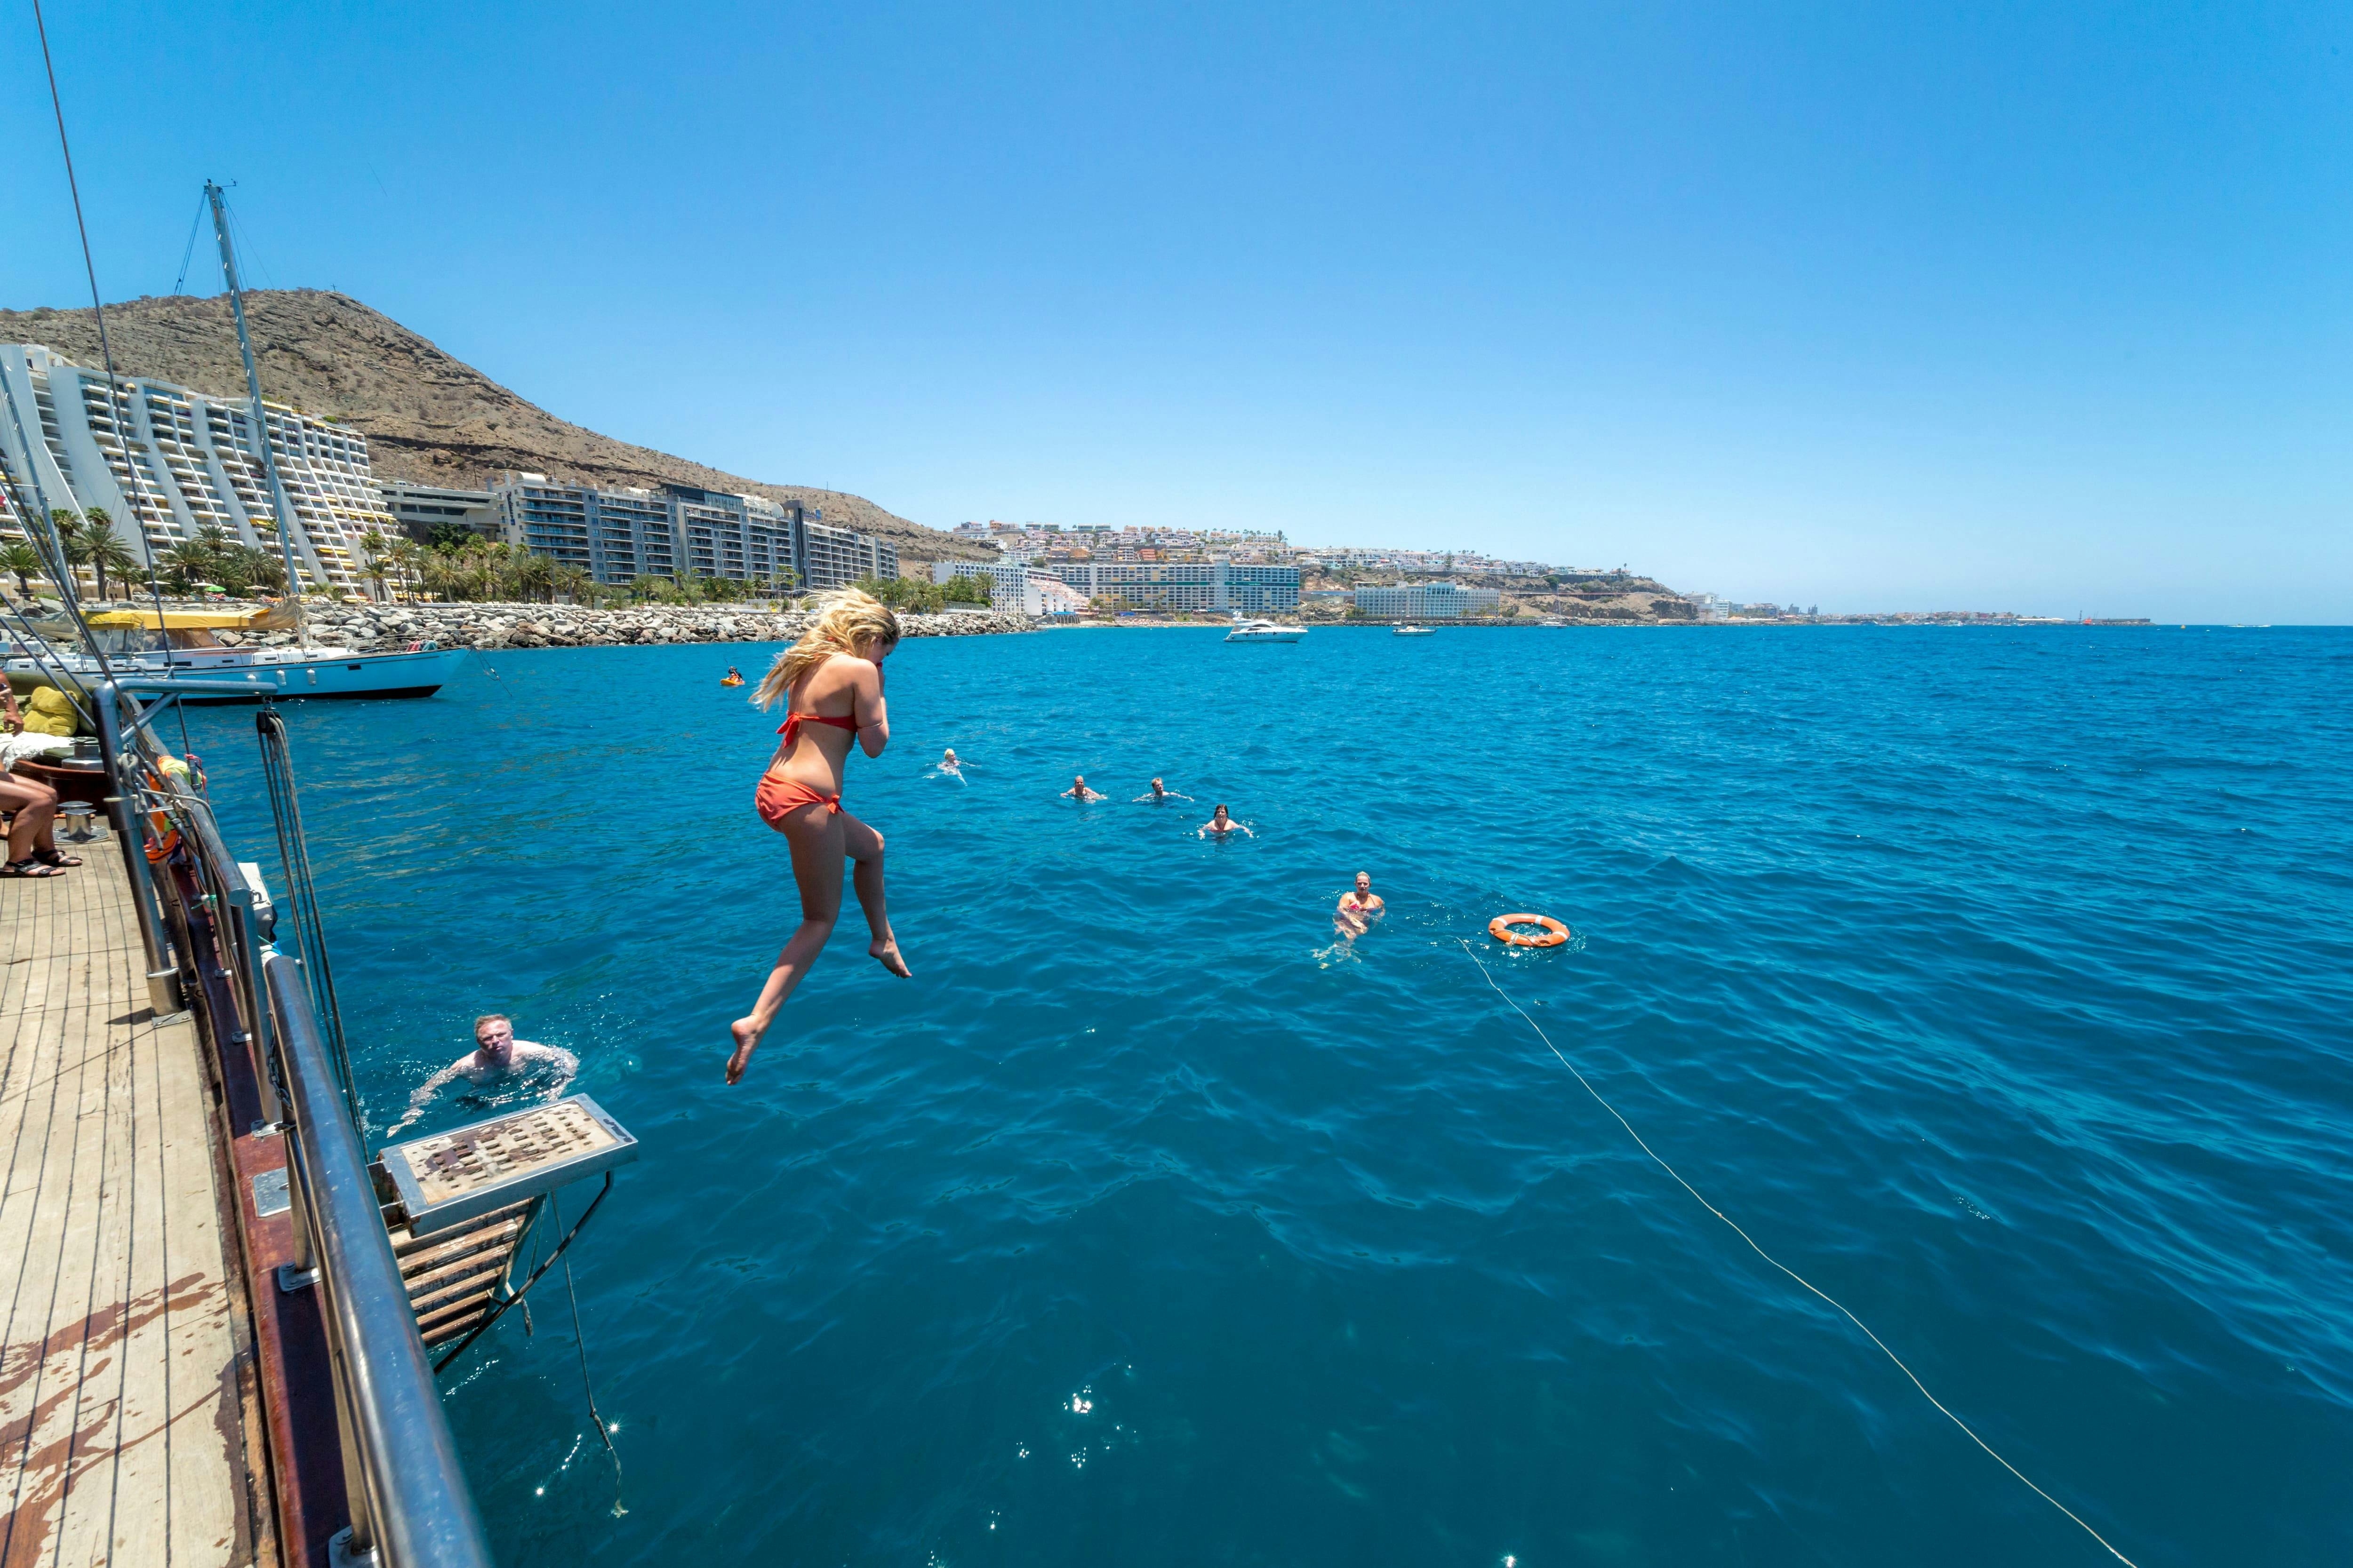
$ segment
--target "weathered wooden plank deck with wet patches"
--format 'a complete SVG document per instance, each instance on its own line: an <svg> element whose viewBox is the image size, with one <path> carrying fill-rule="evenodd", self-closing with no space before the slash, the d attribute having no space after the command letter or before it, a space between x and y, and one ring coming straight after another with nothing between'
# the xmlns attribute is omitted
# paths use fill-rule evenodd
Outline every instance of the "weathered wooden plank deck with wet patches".
<svg viewBox="0 0 2353 1568"><path fill-rule="evenodd" d="M0 882L0 1568L275 1561L200 1039L122 851L73 851Z"/></svg>

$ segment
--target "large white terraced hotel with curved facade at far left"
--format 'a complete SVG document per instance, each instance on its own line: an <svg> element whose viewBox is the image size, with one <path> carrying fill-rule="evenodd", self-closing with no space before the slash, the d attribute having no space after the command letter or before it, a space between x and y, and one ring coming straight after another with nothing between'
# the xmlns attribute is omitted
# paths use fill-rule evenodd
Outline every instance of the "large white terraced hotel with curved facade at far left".
<svg viewBox="0 0 2353 1568"><path fill-rule="evenodd" d="M308 583L355 590L360 536L393 517L367 465L367 437L264 404L278 477L294 505L294 559ZM141 562L221 527L278 550L278 508L245 397L96 371L38 343L0 343L0 468L40 510L106 508Z"/></svg>

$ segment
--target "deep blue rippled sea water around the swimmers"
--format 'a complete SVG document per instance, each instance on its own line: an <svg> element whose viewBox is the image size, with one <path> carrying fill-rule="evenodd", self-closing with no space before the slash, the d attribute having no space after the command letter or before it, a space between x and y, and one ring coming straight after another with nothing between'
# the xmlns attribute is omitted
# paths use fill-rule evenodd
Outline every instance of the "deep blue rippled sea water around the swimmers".
<svg viewBox="0 0 2353 1568"><path fill-rule="evenodd" d="M1471 952L2132 1561L2353 1559L2353 632L911 642L847 804L915 978L845 910L739 1088L729 658L289 717L376 1126L506 1011L645 1140L574 1248L626 1514L560 1272L447 1378L504 1563L2113 1561Z"/></svg>

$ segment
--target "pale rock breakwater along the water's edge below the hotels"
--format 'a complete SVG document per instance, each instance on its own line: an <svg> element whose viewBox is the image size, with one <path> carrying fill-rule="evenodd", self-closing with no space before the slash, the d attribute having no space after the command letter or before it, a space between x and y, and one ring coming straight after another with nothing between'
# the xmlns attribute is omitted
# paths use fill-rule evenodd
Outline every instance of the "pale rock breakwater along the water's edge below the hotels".
<svg viewBox="0 0 2353 1568"><path fill-rule="evenodd" d="M649 642L791 642L814 616L755 604L322 604L308 609L311 639L358 651L438 642L445 649L609 649ZM908 637L1026 632L1005 611L899 616ZM294 632L219 632L226 644L285 646Z"/></svg>

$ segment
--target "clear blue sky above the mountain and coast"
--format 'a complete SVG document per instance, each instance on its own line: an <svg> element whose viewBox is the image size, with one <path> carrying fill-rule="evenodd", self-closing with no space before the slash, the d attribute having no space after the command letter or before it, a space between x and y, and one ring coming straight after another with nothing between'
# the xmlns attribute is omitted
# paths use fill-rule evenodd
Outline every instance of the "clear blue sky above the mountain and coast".
<svg viewBox="0 0 2353 1568"><path fill-rule="evenodd" d="M49 33L108 299L169 292L235 179L256 282L920 522L2353 621L2344 7L56 0ZM87 303L26 5L0 85L0 303Z"/></svg>

